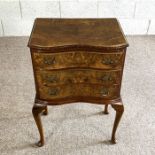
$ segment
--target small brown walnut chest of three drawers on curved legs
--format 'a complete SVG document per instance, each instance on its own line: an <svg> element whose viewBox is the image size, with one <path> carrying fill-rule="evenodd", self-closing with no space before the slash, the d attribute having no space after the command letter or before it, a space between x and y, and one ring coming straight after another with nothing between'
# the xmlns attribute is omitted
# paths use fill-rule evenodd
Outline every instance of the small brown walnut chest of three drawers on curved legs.
<svg viewBox="0 0 155 155"><path fill-rule="evenodd" d="M40 114L48 105L110 104L116 111L112 143L124 111L120 96L128 43L117 19L37 18L28 42L36 97L32 113L44 144Z"/></svg>

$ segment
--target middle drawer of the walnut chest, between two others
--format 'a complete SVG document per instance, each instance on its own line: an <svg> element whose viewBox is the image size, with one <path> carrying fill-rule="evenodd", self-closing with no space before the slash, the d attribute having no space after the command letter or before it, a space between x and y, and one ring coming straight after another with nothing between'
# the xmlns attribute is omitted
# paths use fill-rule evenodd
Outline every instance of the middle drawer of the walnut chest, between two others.
<svg viewBox="0 0 155 155"><path fill-rule="evenodd" d="M121 71L102 71L88 69L67 69L37 71L37 82L39 85L53 86L63 84L119 84L121 80Z"/></svg>

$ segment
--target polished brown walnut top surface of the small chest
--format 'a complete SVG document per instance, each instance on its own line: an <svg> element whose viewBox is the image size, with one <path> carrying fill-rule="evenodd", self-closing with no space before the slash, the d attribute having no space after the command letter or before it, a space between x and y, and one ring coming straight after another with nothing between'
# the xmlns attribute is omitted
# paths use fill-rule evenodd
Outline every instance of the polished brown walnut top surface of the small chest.
<svg viewBox="0 0 155 155"><path fill-rule="evenodd" d="M39 49L68 46L119 49L127 47L128 42L115 18L37 18L28 46Z"/></svg>

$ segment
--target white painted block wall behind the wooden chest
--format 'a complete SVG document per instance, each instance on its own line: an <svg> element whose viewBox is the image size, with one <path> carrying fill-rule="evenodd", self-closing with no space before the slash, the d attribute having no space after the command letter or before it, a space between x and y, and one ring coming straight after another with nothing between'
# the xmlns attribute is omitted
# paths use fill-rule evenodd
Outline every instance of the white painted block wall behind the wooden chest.
<svg viewBox="0 0 155 155"><path fill-rule="evenodd" d="M125 34L155 34L155 0L0 0L0 36L30 35L36 17L116 17Z"/></svg>

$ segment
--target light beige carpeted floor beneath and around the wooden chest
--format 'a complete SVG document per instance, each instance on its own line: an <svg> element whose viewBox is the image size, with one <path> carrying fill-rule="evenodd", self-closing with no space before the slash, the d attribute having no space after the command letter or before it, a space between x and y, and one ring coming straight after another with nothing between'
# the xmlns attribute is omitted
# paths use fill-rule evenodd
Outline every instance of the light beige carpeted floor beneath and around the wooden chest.
<svg viewBox="0 0 155 155"><path fill-rule="evenodd" d="M111 145L114 110L75 103L49 107L43 116L46 138L36 148L38 131L31 108L35 89L28 37L0 38L1 155L154 155L155 36L128 36L122 85L125 112Z"/></svg>

